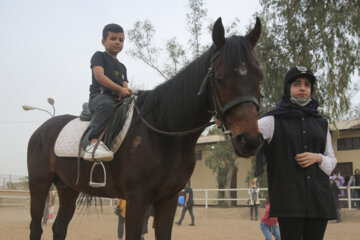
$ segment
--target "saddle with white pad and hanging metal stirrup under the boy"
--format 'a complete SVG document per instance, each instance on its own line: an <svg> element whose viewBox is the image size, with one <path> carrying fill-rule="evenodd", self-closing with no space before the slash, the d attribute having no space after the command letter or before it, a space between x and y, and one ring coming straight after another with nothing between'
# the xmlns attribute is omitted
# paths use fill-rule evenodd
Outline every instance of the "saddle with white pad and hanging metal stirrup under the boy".
<svg viewBox="0 0 360 240"><path fill-rule="evenodd" d="M128 97L119 102L111 115L102 141L112 152L116 152L129 130L135 105L135 97ZM55 142L54 151L58 157L84 157L85 148L89 144L89 134L91 131L91 119L93 113L90 111L88 103L83 104L80 117L67 123L58 135ZM104 172L104 182L93 182L92 172L97 165L101 165ZM106 171L102 161L95 160L91 168L90 182L92 187L104 187L106 185Z"/></svg>

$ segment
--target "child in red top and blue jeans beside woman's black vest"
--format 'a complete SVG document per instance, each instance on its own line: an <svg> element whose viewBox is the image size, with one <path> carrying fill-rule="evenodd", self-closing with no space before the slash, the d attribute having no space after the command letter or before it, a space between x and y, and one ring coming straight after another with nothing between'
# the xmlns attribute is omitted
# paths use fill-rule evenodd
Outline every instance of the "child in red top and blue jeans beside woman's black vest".
<svg viewBox="0 0 360 240"><path fill-rule="evenodd" d="M280 231L279 231L279 226L277 225L278 220L276 217L274 218L269 217L269 211L270 211L269 196L266 196L265 214L261 218L260 229L265 236L265 240L271 240L272 239L271 235L274 235L275 240L280 240L281 239Z"/></svg>

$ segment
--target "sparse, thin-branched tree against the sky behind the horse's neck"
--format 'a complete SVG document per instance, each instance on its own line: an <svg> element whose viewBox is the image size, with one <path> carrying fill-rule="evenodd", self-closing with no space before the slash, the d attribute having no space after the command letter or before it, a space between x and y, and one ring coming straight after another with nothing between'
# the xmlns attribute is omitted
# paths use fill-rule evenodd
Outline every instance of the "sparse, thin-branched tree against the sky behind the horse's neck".
<svg viewBox="0 0 360 240"><path fill-rule="evenodd" d="M164 79L170 79L186 64L199 57L209 43L203 43L201 36L203 31L211 33L212 24L204 27L207 16L207 9L204 7L203 0L188 0L189 13L186 14L186 29L189 31L187 49L190 49L191 55L187 55L182 44L173 37L166 41L164 47L156 47L153 42L155 27L149 20L137 21L134 27L127 32L128 38L134 47L128 50L130 56L134 59L144 62L149 67L157 71ZM230 26L226 26L226 33L236 33L239 19L235 19ZM165 58L164 61L160 61Z"/></svg>

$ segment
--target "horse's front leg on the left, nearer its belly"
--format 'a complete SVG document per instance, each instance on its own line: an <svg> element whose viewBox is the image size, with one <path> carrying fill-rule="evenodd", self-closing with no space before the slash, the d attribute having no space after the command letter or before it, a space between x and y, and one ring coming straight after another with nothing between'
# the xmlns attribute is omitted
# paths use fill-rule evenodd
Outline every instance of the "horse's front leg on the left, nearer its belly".
<svg viewBox="0 0 360 240"><path fill-rule="evenodd" d="M126 199L125 234L126 240L140 240L149 204L142 196Z"/></svg>

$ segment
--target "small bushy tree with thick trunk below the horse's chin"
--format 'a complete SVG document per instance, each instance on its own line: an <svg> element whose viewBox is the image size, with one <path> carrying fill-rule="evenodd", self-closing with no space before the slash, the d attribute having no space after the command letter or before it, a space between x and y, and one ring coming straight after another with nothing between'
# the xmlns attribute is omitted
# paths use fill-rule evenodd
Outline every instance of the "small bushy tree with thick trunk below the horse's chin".
<svg viewBox="0 0 360 240"><path fill-rule="evenodd" d="M220 135L221 130L217 126L209 130L208 135ZM236 156L233 150L231 141L224 139L224 141L207 146L209 156L205 159L205 165L209 167L213 173L216 174L216 180L219 189L231 188L231 178L234 172L237 172L238 166L236 164ZM219 197L230 196L230 193L219 192ZM228 206L228 202L219 202L222 206Z"/></svg>

